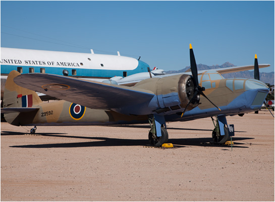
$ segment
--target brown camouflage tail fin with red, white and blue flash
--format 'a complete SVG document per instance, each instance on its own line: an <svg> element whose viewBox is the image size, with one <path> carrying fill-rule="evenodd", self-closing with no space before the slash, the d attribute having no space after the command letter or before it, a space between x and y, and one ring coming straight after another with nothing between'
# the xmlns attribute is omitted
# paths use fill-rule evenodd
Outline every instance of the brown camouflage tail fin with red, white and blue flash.
<svg viewBox="0 0 275 202"><path fill-rule="evenodd" d="M14 82L14 78L18 75L20 75L20 73L13 70L7 78L3 96L3 107L32 108L42 104L42 100L35 91L23 88ZM19 126L19 114L20 112L9 113L5 114L4 117L8 123Z"/></svg>

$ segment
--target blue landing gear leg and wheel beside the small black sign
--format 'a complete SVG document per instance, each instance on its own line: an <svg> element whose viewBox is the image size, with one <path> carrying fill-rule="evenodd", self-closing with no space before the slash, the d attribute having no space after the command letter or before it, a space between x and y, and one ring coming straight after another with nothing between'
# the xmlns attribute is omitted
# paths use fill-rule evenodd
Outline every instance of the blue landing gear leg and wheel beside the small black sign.
<svg viewBox="0 0 275 202"><path fill-rule="evenodd" d="M230 140L229 130L227 127L227 120L225 116L217 116L216 119L211 117L215 128L212 131L213 141L224 144ZM223 129L223 130L221 130Z"/></svg>

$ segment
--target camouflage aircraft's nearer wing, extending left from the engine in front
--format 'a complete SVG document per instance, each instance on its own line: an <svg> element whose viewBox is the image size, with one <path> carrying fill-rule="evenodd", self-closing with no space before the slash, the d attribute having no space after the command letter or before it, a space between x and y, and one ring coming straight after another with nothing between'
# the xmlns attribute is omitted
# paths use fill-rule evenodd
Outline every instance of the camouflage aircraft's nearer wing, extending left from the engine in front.
<svg viewBox="0 0 275 202"><path fill-rule="evenodd" d="M150 102L154 97L150 90L51 74L22 74L15 77L14 82L24 88L91 109L117 109L138 105Z"/></svg>

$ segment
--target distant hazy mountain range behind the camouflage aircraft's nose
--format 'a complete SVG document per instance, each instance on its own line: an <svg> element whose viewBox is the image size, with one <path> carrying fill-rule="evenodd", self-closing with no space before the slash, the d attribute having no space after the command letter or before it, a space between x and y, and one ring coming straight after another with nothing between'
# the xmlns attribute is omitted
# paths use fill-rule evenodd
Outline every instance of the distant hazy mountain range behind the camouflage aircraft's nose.
<svg viewBox="0 0 275 202"><path fill-rule="evenodd" d="M218 69L218 68L225 68L225 67L235 67L232 63L226 62L223 65L212 65L207 66L203 64L198 64L197 68L198 70L209 70L209 69ZM181 73L189 71L190 66L187 66L184 69L178 70L178 71L167 71L167 74L173 74L173 73ZM242 72L234 72L234 73L228 73L228 74L222 74L225 78L254 78L254 72L253 71L242 71ZM260 80L264 83L270 83L271 85L274 85L274 72L260 72Z"/></svg>

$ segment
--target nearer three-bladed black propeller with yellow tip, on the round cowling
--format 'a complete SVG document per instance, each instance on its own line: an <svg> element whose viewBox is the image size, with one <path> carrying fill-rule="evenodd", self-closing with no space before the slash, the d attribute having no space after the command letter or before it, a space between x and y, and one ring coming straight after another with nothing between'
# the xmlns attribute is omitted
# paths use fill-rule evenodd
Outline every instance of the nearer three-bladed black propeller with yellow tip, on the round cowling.
<svg viewBox="0 0 275 202"><path fill-rule="evenodd" d="M191 100L189 101L189 103L187 104L186 108L184 109L183 114L185 113L186 109L189 107L190 103L193 101L193 99L197 96L197 95L202 95L204 96L206 99L208 99L208 97L202 92L205 90L204 87L199 86L199 81L198 81L198 69L197 69L197 64L196 64L196 60L195 60L195 56L194 56L194 52L193 52L193 48L192 45L190 43L190 65L191 65L191 72L192 72L192 76L194 79L194 95L191 98ZM213 104L210 99L208 99L209 102L215 106L219 111L221 111L221 109L219 109L215 104ZM182 117L181 116L181 117Z"/></svg>

